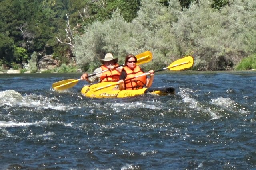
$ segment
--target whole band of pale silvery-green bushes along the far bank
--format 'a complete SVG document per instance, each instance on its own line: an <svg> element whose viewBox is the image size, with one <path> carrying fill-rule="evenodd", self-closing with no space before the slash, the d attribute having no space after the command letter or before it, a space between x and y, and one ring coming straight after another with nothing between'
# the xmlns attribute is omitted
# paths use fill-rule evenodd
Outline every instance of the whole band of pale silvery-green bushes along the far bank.
<svg viewBox="0 0 256 170"><path fill-rule="evenodd" d="M227 6L228 1L199 0L187 9L176 0L170 0L168 7L164 1L158 2L141 0L138 17L131 23L116 10L110 20L85 27L87 31L76 39L74 49L79 66L94 67L88 65L97 63L106 52L122 61L127 53L150 50L154 59L143 64L144 68L162 68L192 55L194 69L226 70L244 55L256 52L256 21L252 20L256 2L237 0Z"/></svg>

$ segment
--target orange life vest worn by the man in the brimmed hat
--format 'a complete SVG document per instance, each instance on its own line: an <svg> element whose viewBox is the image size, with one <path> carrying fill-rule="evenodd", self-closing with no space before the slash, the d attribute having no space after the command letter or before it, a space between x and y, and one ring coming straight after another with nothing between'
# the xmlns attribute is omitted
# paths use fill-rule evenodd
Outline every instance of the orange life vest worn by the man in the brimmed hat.
<svg viewBox="0 0 256 170"><path fill-rule="evenodd" d="M115 64L115 66L118 66L118 64ZM108 68L104 65L101 66L102 71L108 70ZM114 70L108 70L106 72L103 72L100 75L100 81L101 82L118 82L120 77L120 72L118 72L116 69Z"/></svg>

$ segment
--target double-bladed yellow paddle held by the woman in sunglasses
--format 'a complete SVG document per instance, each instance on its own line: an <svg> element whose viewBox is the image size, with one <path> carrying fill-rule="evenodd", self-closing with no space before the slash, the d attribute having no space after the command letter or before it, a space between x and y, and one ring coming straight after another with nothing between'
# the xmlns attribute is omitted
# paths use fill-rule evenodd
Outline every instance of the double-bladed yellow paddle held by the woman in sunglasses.
<svg viewBox="0 0 256 170"><path fill-rule="evenodd" d="M193 64L194 64L193 57L187 56L187 57L184 57L182 59L178 59L178 60L172 62L168 67L162 68L162 69L154 71L154 72L159 72L159 71L163 71L163 70L167 70L167 69L174 70L174 71L183 70L183 69L192 67ZM128 78L124 81L132 80L134 78L138 78L140 76L146 76L149 74L150 73L147 72L147 73L141 74L139 76ZM101 83L97 83L97 84L92 84L90 86L90 92L92 92L93 94L101 94L103 92L112 90L114 88L114 86L116 86L118 84L119 84L118 82L101 82Z"/></svg>

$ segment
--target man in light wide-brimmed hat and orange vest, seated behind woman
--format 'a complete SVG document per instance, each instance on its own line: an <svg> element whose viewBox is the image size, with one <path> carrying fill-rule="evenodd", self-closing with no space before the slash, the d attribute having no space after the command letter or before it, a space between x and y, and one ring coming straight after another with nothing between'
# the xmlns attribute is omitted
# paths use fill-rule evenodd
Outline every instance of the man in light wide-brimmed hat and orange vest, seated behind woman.
<svg viewBox="0 0 256 170"><path fill-rule="evenodd" d="M106 82L106 81L117 82L119 80L120 73L122 70L122 67L117 68L118 66L117 62L118 62L118 58L114 58L111 53L107 53L104 59L100 59L100 63L102 63L102 66L94 70L93 74L96 74L96 75L88 77L88 74L84 73L81 76L81 80L86 80L89 83ZM102 74L97 74L104 70L108 70L108 71L105 71Z"/></svg>

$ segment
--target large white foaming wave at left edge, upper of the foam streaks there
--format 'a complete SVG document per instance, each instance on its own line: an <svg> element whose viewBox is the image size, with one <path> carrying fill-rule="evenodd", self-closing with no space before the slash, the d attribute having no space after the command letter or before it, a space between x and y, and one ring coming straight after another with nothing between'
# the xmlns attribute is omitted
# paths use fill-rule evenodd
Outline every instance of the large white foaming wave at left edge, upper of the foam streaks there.
<svg viewBox="0 0 256 170"><path fill-rule="evenodd" d="M54 110L71 110L74 107L58 103L55 97L48 98L42 95L28 94L22 96L15 90L6 90L0 92L0 106L21 106L34 107L36 109L54 109Z"/></svg>

